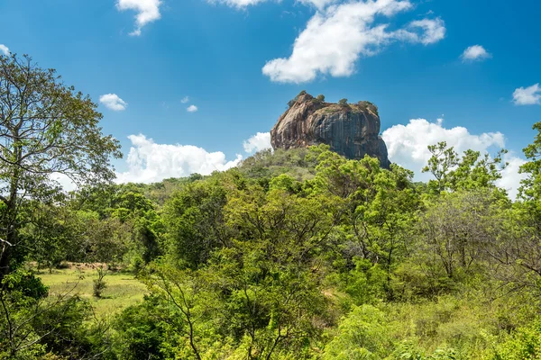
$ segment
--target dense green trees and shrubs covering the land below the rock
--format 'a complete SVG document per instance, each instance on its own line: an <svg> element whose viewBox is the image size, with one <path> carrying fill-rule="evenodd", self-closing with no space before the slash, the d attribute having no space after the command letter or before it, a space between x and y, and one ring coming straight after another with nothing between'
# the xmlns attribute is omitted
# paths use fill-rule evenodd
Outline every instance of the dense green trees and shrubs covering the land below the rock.
<svg viewBox="0 0 541 360"><path fill-rule="evenodd" d="M117 148L96 128L96 105L47 74L22 91L42 70L15 60L2 58L0 74L0 358L541 357L541 123L515 202L495 185L502 154L445 143L429 148L427 184L326 146L111 184ZM6 111L17 91L60 94L72 112L44 116L46 101ZM13 135L18 123L37 135ZM74 134L88 146L68 156ZM81 187L62 193L51 173ZM36 274L67 262L132 273L147 293L96 316L77 286L49 293ZM96 276L97 290L106 282Z"/></svg>

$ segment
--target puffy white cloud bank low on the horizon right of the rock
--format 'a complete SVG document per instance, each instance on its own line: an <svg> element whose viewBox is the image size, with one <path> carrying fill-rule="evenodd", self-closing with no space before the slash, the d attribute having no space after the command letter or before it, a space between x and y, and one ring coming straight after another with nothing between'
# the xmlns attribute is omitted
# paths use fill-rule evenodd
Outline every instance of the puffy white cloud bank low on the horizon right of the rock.
<svg viewBox="0 0 541 360"><path fill-rule="evenodd" d="M383 131L381 137L387 144L390 161L413 170L418 181L427 181L431 178L431 175L421 173L431 157L428 145L446 141L447 146L454 147L459 154L467 149L485 154L490 153L493 147L504 148L505 146L505 138L501 132L474 135L461 126L446 129L442 119L436 122L413 119L407 125L390 127ZM498 185L508 190L509 196L514 198L522 178L518 175L518 166L522 165L524 160L511 154L507 154L504 160L509 162L509 166L502 172Z"/></svg>

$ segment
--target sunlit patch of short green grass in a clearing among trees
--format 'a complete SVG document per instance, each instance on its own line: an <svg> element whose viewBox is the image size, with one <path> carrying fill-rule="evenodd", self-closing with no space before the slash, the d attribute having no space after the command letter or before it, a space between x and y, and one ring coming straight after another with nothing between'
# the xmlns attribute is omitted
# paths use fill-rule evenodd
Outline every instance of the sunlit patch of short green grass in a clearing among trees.
<svg viewBox="0 0 541 360"><path fill-rule="evenodd" d="M97 277L95 269L53 270L52 274L42 272L38 276L43 284L49 286L50 295L70 292L87 299L95 308L97 317L112 315L141 302L147 293L144 284L126 273L107 272L104 278L107 287L99 299L93 296L93 280Z"/></svg>

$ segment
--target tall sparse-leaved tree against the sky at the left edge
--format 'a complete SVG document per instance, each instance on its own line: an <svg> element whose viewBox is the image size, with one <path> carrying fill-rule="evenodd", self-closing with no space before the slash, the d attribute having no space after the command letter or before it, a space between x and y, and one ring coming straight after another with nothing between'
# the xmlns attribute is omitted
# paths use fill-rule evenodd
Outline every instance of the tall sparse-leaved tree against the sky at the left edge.
<svg viewBox="0 0 541 360"><path fill-rule="evenodd" d="M115 173L110 157L122 157L119 143L104 136L96 103L64 85L53 69L32 58L0 57L0 276L10 271L24 219L23 200L51 201L59 184L108 182Z"/></svg>

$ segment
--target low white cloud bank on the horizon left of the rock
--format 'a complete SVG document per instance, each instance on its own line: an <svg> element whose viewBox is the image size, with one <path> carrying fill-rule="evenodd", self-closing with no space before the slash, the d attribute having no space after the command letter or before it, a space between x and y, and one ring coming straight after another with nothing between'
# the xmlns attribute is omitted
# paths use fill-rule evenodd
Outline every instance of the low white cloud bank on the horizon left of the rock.
<svg viewBox="0 0 541 360"><path fill-rule="evenodd" d="M237 166L242 156L225 160L221 151L207 152L192 145L156 144L144 135L130 135L132 148L127 157L128 171L116 174L118 183L154 183L169 177L198 173L211 174Z"/></svg>

